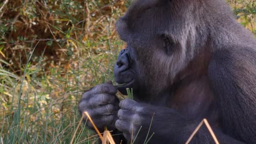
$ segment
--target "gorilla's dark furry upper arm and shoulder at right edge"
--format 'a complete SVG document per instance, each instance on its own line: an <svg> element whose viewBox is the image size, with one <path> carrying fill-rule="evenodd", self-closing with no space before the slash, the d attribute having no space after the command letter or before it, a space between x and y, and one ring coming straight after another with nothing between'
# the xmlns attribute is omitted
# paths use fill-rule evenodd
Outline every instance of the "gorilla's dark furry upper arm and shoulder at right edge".
<svg viewBox="0 0 256 144"><path fill-rule="evenodd" d="M255 55L247 48L217 51L208 70L223 131L247 143L256 142Z"/></svg>

